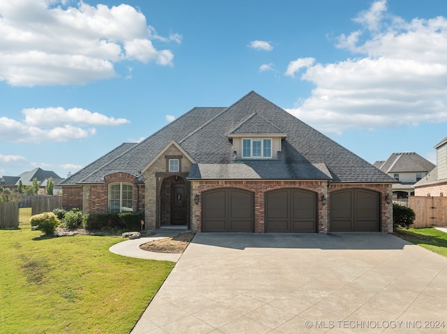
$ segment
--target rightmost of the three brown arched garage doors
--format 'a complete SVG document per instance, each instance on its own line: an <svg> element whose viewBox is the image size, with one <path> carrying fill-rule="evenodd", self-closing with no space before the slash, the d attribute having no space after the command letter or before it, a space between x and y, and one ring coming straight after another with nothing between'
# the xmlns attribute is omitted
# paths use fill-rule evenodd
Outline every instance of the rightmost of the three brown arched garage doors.
<svg viewBox="0 0 447 334"><path fill-rule="evenodd" d="M380 195L363 189L330 194L330 231L380 231Z"/></svg>

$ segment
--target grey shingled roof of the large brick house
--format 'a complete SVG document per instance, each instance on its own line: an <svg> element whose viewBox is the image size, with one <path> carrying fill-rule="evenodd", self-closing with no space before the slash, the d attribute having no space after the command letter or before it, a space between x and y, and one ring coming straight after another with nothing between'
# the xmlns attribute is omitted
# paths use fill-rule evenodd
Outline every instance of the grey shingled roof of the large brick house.
<svg viewBox="0 0 447 334"><path fill-rule="evenodd" d="M278 158L237 159L231 136L250 133L284 134ZM230 107L193 108L142 142L118 146L64 184L102 183L104 176L113 172L126 172L144 181L141 170L173 140L196 162L189 179L395 182L358 155L251 91Z"/></svg>

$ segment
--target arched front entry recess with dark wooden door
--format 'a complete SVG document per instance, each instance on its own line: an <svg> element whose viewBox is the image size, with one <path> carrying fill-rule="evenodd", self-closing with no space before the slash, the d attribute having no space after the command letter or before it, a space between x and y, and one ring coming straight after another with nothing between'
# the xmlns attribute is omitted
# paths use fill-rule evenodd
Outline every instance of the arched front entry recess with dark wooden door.
<svg viewBox="0 0 447 334"><path fill-rule="evenodd" d="M159 226L189 226L189 185L182 176L163 179L159 193Z"/></svg>

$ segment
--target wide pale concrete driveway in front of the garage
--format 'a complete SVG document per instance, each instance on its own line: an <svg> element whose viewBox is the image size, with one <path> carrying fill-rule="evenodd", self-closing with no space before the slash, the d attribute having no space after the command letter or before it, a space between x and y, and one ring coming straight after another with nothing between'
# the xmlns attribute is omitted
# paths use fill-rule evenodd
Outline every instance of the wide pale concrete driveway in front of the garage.
<svg viewBox="0 0 447 334"><path fill-rule="evenodd" d="M196 234L131 333L447 333L447 258L374 232Z"/></svg>

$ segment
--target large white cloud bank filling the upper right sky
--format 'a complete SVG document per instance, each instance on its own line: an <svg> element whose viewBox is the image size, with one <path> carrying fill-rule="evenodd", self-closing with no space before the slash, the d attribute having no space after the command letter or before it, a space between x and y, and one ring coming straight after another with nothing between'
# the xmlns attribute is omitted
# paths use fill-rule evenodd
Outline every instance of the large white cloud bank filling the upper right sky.
<svg viewBox="0 0 447 334"><path fill-rule="evenodd" d="M405 22L386 12L382 0L356 22L366 29L339 36L337 47L360 54L358 58L326 64L307 58L289 64L286 75L305 68L300 78L315 88L288 111L336 134L446 122L447 19Z"/></svg>

